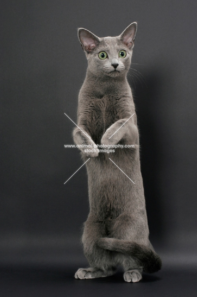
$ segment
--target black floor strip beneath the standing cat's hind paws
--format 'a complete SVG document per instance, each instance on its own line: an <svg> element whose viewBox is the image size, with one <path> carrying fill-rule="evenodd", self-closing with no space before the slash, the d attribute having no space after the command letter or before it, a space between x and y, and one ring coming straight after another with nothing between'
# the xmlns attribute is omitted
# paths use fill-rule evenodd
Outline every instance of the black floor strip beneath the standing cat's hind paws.
<svg viewBox="0 0 197 297"><path fill-rule="evenodd" d="M197 296L195 267L164 267L157 273L143 274L138 283L126 283L121 272L106 278L79 280L74 278L77 268L1 267L0 296Z"/></svg>

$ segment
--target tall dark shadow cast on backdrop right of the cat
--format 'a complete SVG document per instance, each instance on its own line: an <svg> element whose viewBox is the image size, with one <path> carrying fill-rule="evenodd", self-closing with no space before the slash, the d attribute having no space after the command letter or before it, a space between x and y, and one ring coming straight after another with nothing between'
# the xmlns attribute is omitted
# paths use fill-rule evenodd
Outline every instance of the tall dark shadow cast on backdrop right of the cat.
<svg viewBox="0 0 197 297"><path fill-rule="evenodd" d="M134 65L135 68L139 68ZM131 65L133 67L133 65ZM158 125L157 107L160 100L161 85L168 76L159 69L146 71L130 70L128 81L133 90L133 98L138 119L140 135L141 172L146 199L146 210L151 242L162 244L166 236L162 189L159 181L162 174L162 130Z"/></svg>

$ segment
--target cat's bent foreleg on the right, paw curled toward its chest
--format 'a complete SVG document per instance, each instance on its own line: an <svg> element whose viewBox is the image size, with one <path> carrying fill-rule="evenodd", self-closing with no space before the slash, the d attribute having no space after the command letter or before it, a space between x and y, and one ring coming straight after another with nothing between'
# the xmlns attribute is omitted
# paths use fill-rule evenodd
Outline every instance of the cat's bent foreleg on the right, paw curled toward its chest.
<svg viewBox="0 0 197 297"><path fill-rule="evenodd" d="M128 144L135 144L138 139L138 128L133 119L120 119L110 126L104 133L101 144L117 144L125 139Z"/></svg>

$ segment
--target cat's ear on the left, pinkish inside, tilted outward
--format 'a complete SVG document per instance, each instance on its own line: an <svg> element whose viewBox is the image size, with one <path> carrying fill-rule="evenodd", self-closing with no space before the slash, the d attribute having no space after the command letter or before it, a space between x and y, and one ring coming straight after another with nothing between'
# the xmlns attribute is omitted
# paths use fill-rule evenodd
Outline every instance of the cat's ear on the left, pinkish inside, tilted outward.
<svg viewBox="0 0 197 297"><path fill-rule="evenodd" d="M100 42L99 37L83 28L78 29L78 38L83 50L87 53L90 53L92 50L94 50Z"/></svg>

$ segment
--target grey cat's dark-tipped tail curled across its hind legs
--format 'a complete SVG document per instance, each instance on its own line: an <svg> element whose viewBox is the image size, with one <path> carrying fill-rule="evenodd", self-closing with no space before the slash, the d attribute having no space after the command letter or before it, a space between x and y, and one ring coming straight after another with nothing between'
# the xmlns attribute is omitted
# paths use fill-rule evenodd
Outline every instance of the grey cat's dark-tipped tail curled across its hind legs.
<svg viewBox="0 0 197 297"><path fill-rule="evenodd" d="M100 238L97 242L98 246L114 252L120 252L130 255L141 262L143 271L153 273L161 269L161 258L149 247L135 242L130 242L117 238Z"/></svg>

